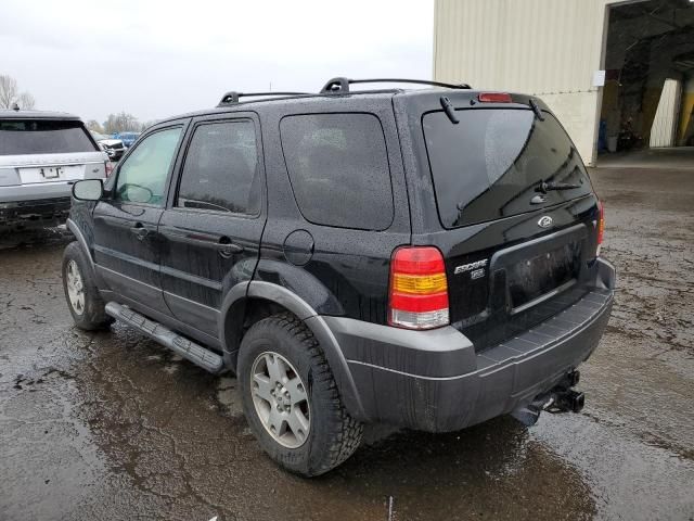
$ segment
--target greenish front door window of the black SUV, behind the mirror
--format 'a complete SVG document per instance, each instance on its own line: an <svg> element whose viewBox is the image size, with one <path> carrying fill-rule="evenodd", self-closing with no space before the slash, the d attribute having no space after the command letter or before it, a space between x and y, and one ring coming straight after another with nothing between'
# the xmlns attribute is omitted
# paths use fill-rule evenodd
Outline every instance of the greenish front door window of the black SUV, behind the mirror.
<svg viewBox="0 0 694 521"><path fill-rule="evenodd" d="M166 177L180 135L181 127L176 127L144 138L120 166L116 199L163 206Z"/></svg>

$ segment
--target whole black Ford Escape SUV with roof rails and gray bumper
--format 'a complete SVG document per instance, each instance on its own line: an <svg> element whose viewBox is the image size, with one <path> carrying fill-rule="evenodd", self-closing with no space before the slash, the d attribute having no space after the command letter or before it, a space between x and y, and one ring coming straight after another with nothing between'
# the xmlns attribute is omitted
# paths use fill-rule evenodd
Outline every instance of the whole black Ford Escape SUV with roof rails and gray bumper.
<svg viewBox="0 0 694 521"><path fill-rule="evenodd" d="M77 326L118 319L233 371L265 450L305 475L364 422L580 410L613 302L602 205L542 101L365 81L229 92L73 189Z"/></svg>

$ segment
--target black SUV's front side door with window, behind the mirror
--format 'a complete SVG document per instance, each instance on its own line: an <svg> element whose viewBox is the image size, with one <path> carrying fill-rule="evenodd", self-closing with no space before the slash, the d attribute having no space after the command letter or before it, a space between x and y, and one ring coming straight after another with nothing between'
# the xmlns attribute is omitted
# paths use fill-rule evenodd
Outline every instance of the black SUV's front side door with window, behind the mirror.
<svg viewBox="0 0 694 521"><path fill-rule="evenodd" d="M136 308L168 313L157 226L184 125L150 132L120 163L112 194L94 207L94 258L107 284Z"/></svg>

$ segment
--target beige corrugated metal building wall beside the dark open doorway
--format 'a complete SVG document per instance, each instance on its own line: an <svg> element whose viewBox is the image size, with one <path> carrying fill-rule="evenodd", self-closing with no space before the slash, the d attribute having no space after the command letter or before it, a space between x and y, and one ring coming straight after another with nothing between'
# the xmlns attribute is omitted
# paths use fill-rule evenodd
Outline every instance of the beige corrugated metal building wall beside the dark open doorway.
<svg viewBox="0 0 694 521"><path fill-rule="evenodd" d="M541 97L592 163L607 3L436 0L434 77Z"/></svg>

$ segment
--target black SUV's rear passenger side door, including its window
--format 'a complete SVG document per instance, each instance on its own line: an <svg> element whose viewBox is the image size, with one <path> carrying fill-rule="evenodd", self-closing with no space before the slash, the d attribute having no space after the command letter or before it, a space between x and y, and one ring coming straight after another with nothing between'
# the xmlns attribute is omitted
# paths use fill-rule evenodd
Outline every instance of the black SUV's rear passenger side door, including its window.
<svg viewBox="0 0 694 521"><path fill-rule="evenodd" d="M198 118L162 216L162 284L174 316L218 334L223 295L253 277L266 221L257 116Z"/></svg>

